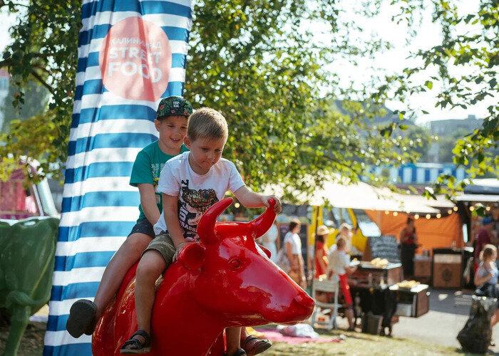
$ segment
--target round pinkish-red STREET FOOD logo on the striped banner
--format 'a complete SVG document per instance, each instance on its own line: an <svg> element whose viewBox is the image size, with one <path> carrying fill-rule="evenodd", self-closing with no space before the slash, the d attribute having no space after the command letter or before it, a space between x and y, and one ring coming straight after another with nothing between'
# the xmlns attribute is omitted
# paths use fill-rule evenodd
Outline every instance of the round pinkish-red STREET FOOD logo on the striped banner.
<svg viewBox="0 0 499 356"><path fill-rule="evenodd" d="M168 87L172 51L165 31L131 16L110 28L99 52L104 86L131 100L156 101Z"/></svg>

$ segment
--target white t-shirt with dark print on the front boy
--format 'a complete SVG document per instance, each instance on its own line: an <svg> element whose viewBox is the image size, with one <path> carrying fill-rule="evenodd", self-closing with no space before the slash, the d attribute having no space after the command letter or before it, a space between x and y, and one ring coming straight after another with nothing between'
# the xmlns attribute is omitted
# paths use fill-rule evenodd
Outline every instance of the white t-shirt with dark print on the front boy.
<svg viewBox="0 0 499 356"><path fill-rule="evenodd" d="M189 164L190 152L168 160L161 170L158 192L178 197L178 221L184 237L194 237L202 214L222 199L227 191L245 186L234 163L220 158L207 174L197 174ZM154 233L167 231L164 211L154 225Z"/></svg>

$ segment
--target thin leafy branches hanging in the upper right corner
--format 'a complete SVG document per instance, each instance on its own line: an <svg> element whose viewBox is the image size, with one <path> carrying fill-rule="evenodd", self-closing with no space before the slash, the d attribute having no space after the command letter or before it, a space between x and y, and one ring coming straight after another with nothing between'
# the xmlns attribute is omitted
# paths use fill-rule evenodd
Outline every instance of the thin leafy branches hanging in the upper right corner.
<svg viewBox="0 0 499 356"><path fill-rule="evenodd" d="M382 0L378 1L379 3ZM417 15L426 8L432 9L432 21L441 28L441 43L429 49L412 53L418 66L405 68L400 75L386 78L392 91L381 91L374 98L404 100L411 93L431 91L436 107L470 108L488 100L488 115L483 125L456 140L453 162L468 167L471 178L488 173L497 174L499 156L495 155L499 140L499 1L480 0L471 14L461 14L458 0L392 0L392 4L403 4L402 11L393 16L393 21L413 23ZM438 89L433 84L438 83ZM446 193L449 197L463 189L465 182L456 184L456 179L442 175L434 184L433 193Z"/></svg>

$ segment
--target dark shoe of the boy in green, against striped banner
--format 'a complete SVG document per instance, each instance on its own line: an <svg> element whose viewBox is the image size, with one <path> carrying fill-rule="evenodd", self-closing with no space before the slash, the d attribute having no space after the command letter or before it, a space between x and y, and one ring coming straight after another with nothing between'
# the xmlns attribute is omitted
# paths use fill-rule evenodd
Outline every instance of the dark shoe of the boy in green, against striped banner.
<svg viewBox="0 0 499 356"><path fill-rule="evenodd" d="M97 305L90 300L76 300L69 310L66 330L72 337L80 337L85 333L92 335L96 328Z"/></svg>

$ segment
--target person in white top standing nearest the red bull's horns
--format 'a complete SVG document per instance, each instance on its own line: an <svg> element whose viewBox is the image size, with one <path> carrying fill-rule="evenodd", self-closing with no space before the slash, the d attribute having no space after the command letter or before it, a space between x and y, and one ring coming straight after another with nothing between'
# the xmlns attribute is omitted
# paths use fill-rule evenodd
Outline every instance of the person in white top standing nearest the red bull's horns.
<svg viewBox="0 0 499 356"><path fill-rule="evenodd" d="M289 277L298 283L303 289L307 288L307 280L305 279L305 268L302 256L302 241L299 239L299 231L302 228L298 219L289 221L289 231L284 236L284 251L289 259L290 271Z"/></svg>

